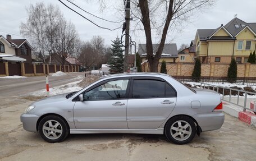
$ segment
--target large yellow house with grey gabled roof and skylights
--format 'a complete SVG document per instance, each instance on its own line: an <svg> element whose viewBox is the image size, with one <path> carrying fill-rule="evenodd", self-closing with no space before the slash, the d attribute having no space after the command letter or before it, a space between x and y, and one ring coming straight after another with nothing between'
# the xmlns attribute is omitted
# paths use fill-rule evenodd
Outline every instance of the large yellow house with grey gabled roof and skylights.
<svg viewBox="0 0 256 161"><path fill-rule="evenodd" d="M235 17L217 29L199 29L195 35L195 55L202 63L246 63L256 50L256 23Z"/></svg>

